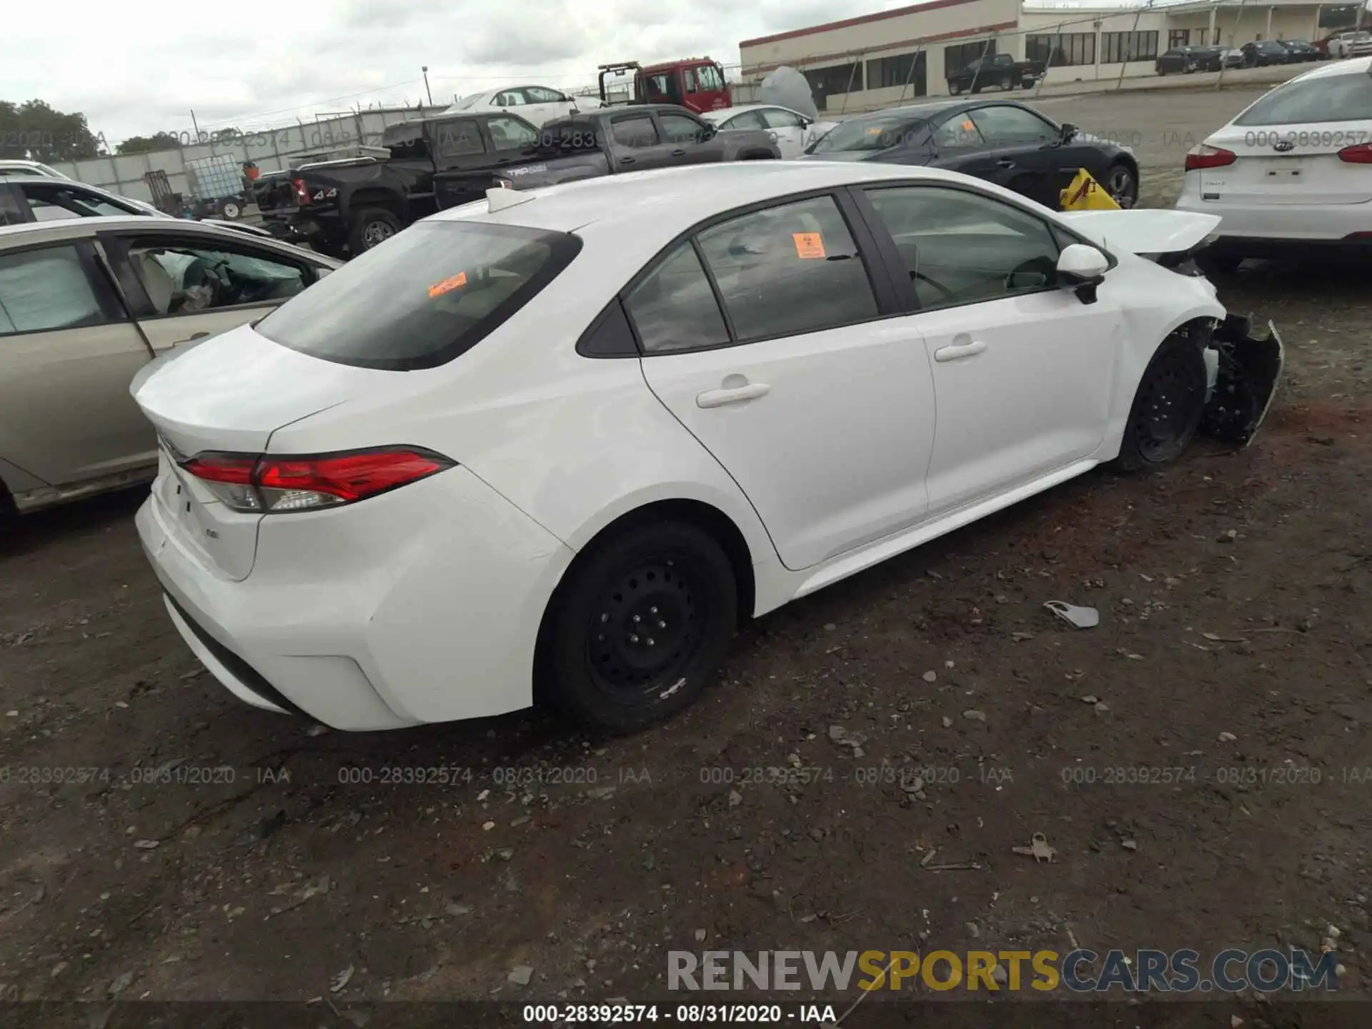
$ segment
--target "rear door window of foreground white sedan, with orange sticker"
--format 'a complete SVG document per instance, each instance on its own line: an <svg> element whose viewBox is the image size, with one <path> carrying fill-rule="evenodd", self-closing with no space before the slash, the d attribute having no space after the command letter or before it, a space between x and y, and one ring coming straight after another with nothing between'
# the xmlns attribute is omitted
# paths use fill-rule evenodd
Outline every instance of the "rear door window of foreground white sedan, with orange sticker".
<svg viewBox="0 0 1372 1029"><path fill-rule="evenodd" d="M698 241L741 343L877 317L867 269L831 196L744 214Z"/></svg>

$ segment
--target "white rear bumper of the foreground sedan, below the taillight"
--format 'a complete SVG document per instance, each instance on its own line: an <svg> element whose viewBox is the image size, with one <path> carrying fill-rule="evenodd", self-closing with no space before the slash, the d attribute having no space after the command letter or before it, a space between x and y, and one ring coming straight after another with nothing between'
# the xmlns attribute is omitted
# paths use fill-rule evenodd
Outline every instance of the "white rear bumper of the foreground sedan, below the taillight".
<svg viewBox="0 0 1372 1029"><path fill-rule="evenodd" d="M137 514L173 624L236 697L354 731L532 702L539 623L572 552L475 475L269 520L252 573L232 582L155 495Z"/></svg>

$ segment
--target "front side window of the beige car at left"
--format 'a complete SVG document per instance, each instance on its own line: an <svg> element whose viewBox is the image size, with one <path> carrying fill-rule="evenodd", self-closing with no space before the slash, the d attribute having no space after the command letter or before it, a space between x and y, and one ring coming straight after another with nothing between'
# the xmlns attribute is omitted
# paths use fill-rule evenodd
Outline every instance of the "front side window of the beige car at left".
<svg viewBox="0 0 1372 1029"><path fill-rule="evenodd" d="M129 266L152 306L147 317L273 303L307 285L305 270L269 257L189 240L129 241Z"/></svg>

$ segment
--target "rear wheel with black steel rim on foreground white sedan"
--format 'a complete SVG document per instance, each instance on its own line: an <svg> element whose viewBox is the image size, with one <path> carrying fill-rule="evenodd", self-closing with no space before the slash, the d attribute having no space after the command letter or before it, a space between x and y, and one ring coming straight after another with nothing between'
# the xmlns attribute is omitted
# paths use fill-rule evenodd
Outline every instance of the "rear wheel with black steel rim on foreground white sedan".
<svg viewBox="0 0 1372 1029"><path fill-rule="evenodd" d="M539 697L600 729L645 729L700 697L737 620L734 568L709 532L638 523L583 550L558 586L535 660Z"/></svg>

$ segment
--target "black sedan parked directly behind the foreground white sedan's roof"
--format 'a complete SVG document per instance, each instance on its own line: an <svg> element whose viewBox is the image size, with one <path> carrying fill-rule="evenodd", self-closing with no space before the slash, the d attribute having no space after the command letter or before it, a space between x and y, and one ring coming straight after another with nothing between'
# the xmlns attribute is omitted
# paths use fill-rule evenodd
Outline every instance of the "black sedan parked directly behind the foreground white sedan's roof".
<svg viewBox="0 0 1372 1029"><path fill-rule="evenodd" d="M811 144L801 161L944 167L1014 189L1052 210L1084 167L1121 207L1139 200L1133 151L1014 100L948 100L848 118Z"/></svg>

